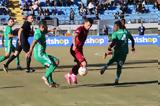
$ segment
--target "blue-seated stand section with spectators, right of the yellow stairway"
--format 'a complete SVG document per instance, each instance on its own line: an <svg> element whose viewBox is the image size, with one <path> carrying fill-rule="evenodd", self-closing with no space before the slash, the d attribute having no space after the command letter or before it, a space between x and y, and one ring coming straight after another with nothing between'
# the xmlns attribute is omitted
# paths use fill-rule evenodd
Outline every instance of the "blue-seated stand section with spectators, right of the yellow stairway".
<svg viewBox="0 0 160 106"><path fill-rule="evenodd" d="M143 2L140 4L137 3L136 5L128 5L126 3L118 3L116 5L114 3L92 3L92 12L89 11L86 0L82 0L82 2L75 0L70 3L65 0L57 0L57 2L52 0L20 0L19 3L21 4L24 17L28 14L33 14L37 21L41 19L52 20L58 18L60 24L70 24L69 15L71 8L75 13L75 24L79 24L85 17L105 20L111 18L118 19L124 16L128 22L133 23L138 22L137 20L140 19L144 22L156 22L158 19L157 13L159 12L158 8L155 8L153 4L143 4ZM85 13L81 14L81 8L83 8L82 12ZM98 11L97 14L96 11Z"/></svg>

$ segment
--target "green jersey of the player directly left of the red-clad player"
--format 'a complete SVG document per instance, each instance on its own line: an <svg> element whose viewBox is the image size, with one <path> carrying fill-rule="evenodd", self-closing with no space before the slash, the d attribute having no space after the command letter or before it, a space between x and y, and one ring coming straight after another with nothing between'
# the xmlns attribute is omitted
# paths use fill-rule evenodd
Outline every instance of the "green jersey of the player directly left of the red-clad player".
<svg viewBox="0 0 160 106"><path fill-rule="evenodd" d="M36 29L34 33L34 40L37 40L34 47L34 53L45 53L46 50L46 37L45 33L41 32L40 29Z"/></svg>

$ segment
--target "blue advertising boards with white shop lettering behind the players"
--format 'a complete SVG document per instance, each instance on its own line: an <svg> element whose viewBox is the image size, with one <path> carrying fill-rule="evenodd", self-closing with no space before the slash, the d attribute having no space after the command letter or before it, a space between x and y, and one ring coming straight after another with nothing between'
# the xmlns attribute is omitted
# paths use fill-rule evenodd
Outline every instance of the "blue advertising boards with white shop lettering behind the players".
<svg viewBox="0 0 160 106"><path fill-rule="evenodd" d="M157 35L144 35L133 36L135 39L136 45L160 45L160 37ZM13 44L16 44L16 39L14 38ZM33 37L29 38L29 42L32 42ZM72 44L72 37L46 37L47 46L70 46ZM131 43L131 42L129 42ZM108 45L108 37L107 36L88 36L85 46L107 46ZM0 38L0 47L1 38Z"/></svg>

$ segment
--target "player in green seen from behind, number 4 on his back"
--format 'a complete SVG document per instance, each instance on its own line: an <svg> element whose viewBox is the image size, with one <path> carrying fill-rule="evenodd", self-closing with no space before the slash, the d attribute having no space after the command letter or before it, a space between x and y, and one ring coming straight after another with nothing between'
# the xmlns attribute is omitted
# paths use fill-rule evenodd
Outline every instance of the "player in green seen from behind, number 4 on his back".
<svg viewBox="0 0 160 106"><path fill-rule="evenodd" d="M122 67L128 54L128 39L130 39L132 42L132 51L135 51L135 42L132 35L128 32L128 30L126 30L124 25L122 25L121 21L116 21L114 23L114 31L115 32L112 34L112 42L108 47L109 52L112 51L112 47L114 47L113 55L108 63L100 70L100 74L104 74L108 66L110 66L114 62L117 62L115 84L118 84Z"/></svg>

